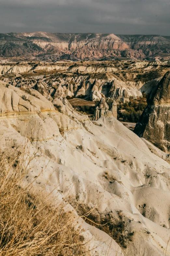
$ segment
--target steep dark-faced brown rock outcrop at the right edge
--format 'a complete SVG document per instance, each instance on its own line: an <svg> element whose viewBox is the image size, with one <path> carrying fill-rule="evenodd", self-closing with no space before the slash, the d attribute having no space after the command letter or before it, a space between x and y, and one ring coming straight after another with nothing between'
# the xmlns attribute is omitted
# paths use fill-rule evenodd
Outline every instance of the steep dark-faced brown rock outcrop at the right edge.
<svg viewBox="0 0 170 256"><path fill-rule="evenodd" d="M134 132L170 152L170 71L152 88Z"/></svg>

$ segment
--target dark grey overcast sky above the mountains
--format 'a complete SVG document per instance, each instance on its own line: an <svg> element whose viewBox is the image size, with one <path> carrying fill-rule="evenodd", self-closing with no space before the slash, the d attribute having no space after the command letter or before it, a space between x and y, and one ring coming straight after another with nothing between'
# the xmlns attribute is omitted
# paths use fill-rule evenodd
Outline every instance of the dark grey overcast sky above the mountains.
<svg viewBox="0 0 170 256"><path fill-rule="evenodd" d="M0 0L0 33L170 36L170 0Z"/></svg>

